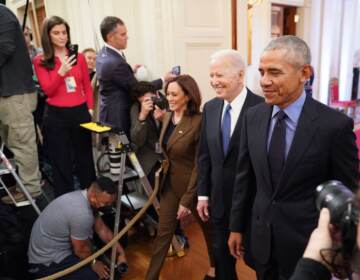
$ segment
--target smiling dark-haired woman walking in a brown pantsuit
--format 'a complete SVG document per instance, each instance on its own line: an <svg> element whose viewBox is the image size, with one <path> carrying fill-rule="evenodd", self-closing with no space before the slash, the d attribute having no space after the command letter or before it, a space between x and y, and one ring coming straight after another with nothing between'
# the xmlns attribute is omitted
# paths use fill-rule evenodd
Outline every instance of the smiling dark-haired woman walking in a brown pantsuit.
<svg viewBox="0 0 360 280"><path fill-rule="evenodd" d="M181 75L165 86L170 112L163 118L160 144L166 158L160 190L158 235L146 279L158 279L178 220L193 213L203 230L210 266L205 279L214 278L210 228L196 211L196 154L200 137L201 95L195 80Z"/></svg>

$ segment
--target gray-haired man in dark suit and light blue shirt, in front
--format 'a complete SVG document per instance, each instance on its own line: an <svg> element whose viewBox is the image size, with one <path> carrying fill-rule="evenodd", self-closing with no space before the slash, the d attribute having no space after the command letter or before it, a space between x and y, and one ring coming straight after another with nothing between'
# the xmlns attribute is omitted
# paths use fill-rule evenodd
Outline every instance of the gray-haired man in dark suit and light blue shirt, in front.
<svg viewBox="0 0 360 280"><path fill-rule="evenodd" d="M300 38L270 42L259 65L265 103L244 116L228 243L232 255L241 257L251 219L250 248L260 280L290 278L316 227L319 184L336 179L358 187L353 120L305 94L310 63L310 49Z"/></svg>

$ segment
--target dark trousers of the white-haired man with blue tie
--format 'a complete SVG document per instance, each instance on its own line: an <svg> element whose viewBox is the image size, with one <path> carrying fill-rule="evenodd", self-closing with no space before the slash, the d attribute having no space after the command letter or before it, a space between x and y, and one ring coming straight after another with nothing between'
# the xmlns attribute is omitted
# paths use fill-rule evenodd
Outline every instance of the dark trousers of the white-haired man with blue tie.
<svg viewBox="0 0 360 280"><path fill-rule="evenodd" d="M212 218L213 253L217 280L235 280L236 259L230 254L227 245L230 231L228 219Z"/></svg>

